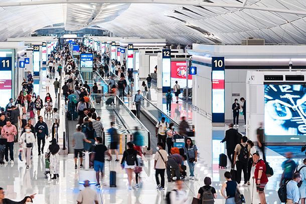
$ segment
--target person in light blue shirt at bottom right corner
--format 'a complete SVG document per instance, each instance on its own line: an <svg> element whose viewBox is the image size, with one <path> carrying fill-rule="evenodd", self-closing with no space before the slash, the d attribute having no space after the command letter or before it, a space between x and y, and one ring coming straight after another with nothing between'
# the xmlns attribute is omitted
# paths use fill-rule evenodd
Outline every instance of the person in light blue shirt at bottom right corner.
<svg viewBox="0 0 306 204"><path fill-rule="evenodd" d="M299 202L299 190L297 183L301 180L299 173L294 173L292 180L290 180L286 185L287 191L287 204L298 204Z"/></svg>

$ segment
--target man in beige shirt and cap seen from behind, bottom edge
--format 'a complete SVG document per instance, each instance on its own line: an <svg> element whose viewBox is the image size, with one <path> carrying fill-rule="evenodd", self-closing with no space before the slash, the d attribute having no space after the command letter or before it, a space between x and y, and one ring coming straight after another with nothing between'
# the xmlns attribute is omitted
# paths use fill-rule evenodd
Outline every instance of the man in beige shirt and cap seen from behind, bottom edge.
<svg viewBox="0 0 306 204"><path fill-rule="evenodd" d="M84 181L84 187L85 189L81 190L77 197L78 204L98 204L98 193L89 187L89 180Z"/></svg>

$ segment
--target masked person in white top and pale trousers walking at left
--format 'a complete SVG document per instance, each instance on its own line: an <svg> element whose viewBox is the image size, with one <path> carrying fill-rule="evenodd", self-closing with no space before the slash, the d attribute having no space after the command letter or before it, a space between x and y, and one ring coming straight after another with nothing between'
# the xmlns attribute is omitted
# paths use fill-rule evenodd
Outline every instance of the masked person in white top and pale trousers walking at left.
<svg viewBox="0 0 306 204"><path fill-rule="evenodd" d="M21 135L19 142L24 148L25 158L27 159L26 165L27 165L27 168L29 168L31 150L32 150L33 144L36 144L36 139L35 139L34 134L31 132L31 127L29 125L25 126L25 130L26 132L24 132Z"/></svg>

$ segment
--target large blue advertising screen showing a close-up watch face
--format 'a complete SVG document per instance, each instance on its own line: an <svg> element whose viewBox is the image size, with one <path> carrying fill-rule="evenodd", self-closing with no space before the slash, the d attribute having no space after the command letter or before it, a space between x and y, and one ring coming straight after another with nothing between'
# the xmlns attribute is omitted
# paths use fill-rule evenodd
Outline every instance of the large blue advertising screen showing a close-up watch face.
<svg viewBox="0 0 306 204"><path fill-rule="evenodd" d="M264 85L265 142L306 142L306 85Z"/></svg>

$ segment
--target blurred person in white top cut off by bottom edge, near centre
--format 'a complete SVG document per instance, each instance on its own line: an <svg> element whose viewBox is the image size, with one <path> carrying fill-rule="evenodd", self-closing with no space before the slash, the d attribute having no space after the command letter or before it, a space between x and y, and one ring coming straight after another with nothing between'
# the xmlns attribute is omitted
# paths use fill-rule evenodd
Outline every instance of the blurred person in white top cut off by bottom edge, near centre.
<svg viewBox="0 0 306 204"><path fill-rule="evenodd" d="M182 180L176 181L176 187L170 192L171 204L187 204L188 196L186 190L184 190L184 182Z"/></svg>

